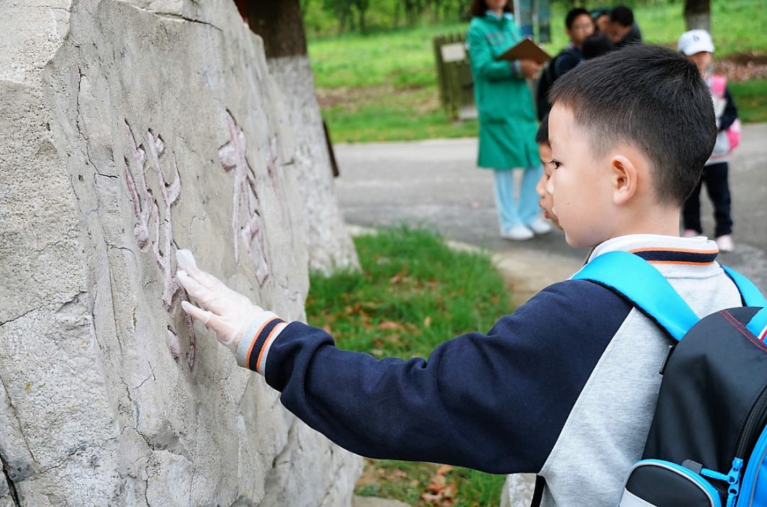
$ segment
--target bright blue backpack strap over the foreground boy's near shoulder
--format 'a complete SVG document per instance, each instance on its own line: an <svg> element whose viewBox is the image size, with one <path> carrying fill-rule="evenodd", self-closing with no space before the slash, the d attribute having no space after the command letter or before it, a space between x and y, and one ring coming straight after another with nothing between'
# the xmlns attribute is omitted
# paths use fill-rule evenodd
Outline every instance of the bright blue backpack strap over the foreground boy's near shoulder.
<svg viewBox="0 0 767 507"><path fill-rule="evenodd" d="M585 265L573 279L593 281L616 291L677 341L700 320L668 280L638 255L607 252Z"/></svg>

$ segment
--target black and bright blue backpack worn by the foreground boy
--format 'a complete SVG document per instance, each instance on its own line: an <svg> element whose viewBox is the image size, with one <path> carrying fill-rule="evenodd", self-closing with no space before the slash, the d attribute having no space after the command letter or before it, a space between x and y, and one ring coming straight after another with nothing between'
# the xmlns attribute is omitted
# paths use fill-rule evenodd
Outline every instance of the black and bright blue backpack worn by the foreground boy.
<svg viewBox="0 0 767 507"><path fill-rule="evenodd" d="M744 306L698 318L643 258L608 252L573 278L611 289L671 338L642 459L620 507L767 505L767 299L723 266Z"/></svg>

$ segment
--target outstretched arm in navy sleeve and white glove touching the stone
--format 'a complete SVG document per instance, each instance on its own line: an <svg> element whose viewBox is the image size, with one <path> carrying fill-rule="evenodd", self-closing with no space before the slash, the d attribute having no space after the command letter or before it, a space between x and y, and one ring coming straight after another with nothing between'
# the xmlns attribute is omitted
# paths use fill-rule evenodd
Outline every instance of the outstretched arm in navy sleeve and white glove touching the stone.
<svg viewBox="0 0 767 507"><path fill-rule="evenodd" d="M223 339L239 342L238 363L264 374L285 407L315 430L364 456L495 473L542 468L630 311L607 289L566 281L503 317L489 334L446 341L428 360L377 360L341 351L321 329L245 305L245 296L216 278L179 265L185 269L179 280L207 311L188 303L185 310L209 318L219 339L222 331L244 330Z"/></svg>

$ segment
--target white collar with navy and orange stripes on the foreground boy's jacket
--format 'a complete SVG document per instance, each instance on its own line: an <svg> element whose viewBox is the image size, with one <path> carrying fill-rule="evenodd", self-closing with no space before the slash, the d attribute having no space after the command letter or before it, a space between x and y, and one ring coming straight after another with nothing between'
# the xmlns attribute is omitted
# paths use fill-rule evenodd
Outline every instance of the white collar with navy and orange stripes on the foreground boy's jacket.
<svg viewBox="0 0 767 507"><path fill-rule="evenodd" d="M713 265L719 248L703 236L680 238L660 234L630 234L597 245L587 262L607 252L631 252L654 265Z"/></svg>

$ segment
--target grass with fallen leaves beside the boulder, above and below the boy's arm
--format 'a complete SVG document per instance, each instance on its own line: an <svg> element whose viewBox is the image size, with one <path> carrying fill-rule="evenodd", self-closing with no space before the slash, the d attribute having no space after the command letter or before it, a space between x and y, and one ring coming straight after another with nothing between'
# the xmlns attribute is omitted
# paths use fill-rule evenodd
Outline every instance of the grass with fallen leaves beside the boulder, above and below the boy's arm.
<svg viewBox="0 0 767 507"><path fill-rule="evenodd" d="M456 252L420 229L384 229L354 242L361 272L312 275L306 306L309 323L331 331L339 347L426 357L451 337L488 331L512 311L485 253ZM357 494L420 507L498 505L503 480L460 467L371 459Z"/></svg>

